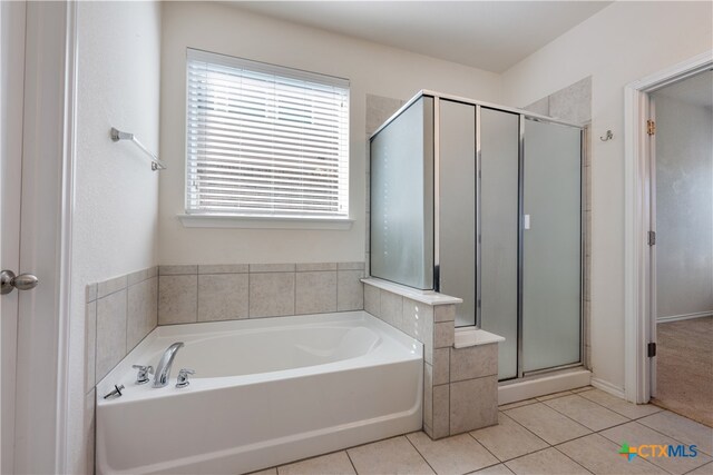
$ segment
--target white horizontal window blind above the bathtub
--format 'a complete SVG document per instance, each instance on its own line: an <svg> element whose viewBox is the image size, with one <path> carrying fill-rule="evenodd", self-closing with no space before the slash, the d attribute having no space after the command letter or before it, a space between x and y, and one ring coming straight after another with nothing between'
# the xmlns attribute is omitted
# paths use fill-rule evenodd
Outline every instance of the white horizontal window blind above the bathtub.
<svg viewBox="0 0 713 475"><path fill-rule="evenodd" d="M188 50L186 214L349 217L349 81Z"/></svg>

